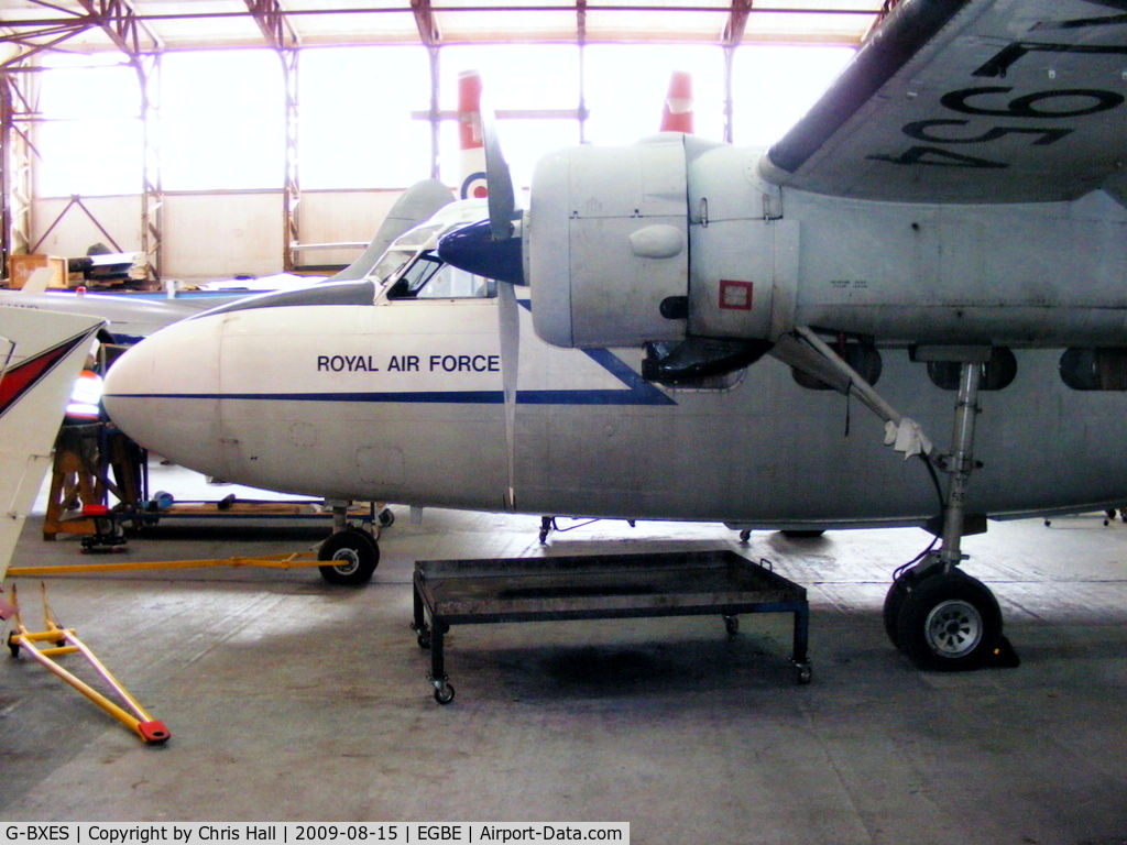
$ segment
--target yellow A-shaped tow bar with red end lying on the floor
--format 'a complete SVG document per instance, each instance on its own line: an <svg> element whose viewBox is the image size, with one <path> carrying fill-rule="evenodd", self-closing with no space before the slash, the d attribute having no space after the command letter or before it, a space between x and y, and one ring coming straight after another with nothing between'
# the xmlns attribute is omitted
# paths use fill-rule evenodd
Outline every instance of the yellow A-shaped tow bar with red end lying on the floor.
<svg viewBox="0 0 1127 845"><path fill-rule="evenodd" d="M165 727L165 723L153 719L145 712L136 699L130 695L128 691L114 677L109 669L95 657L90 648L78 638L73 629L64 629L55 624L47 607L46 587L41 585L41 590L43 593L44 630L33 632L27 630L20 619L16 587L12 586L11 588L11 605L15 607L12 615L15 628L8 634L8 648L11 650L11 656L19 657L20 649L24 649L28 657L41 664L47 671L65 681L87 699L121 721L136 733L142 741L150 745L167 742L172 735ZM39 643L53 644L41 648ZM103 695L54 660L55 657L76 652L82 655L89 661L101 679L117 694L122 704L117 704L106 695Z"/></svg>

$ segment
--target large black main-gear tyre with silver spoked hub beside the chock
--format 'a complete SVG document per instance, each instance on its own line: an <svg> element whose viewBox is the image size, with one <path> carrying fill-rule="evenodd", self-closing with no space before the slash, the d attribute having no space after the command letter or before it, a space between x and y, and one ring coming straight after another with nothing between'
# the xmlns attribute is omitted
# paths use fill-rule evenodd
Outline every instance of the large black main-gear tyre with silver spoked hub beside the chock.
<svg viewBox="0 0 1127 845"><path fill-rule="evenodd" d="M907 585L897 616L899 649L921 669L982 667L1002 641L1002 611L982 581L955 569Z"/></svg>

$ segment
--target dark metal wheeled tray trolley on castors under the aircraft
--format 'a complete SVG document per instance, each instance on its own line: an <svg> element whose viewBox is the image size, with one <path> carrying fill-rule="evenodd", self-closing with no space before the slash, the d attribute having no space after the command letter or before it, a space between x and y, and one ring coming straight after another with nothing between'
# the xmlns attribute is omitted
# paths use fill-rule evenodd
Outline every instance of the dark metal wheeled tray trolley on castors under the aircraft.
<svg viewBox="0 0 1127 845"><path fill-rule="evenodd" d="M420 560L414 584L411 629L431 650L429 679L440 704L454 699L445 674L446 632L491 622L716 614L735 634L739 614L793 613L790 659L798 683L810 681L806 588L728 550Z"/></svg>

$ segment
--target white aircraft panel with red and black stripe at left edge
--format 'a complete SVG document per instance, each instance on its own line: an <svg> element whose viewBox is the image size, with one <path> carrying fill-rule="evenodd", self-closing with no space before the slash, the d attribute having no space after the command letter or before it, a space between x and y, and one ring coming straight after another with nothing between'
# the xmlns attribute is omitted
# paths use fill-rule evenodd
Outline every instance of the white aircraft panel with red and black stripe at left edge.
<svg viewBox="0 0 1127 845"><path fill-rule="evenodd" d="M97 317L0 305L0 580L103 324Z"/></svg>

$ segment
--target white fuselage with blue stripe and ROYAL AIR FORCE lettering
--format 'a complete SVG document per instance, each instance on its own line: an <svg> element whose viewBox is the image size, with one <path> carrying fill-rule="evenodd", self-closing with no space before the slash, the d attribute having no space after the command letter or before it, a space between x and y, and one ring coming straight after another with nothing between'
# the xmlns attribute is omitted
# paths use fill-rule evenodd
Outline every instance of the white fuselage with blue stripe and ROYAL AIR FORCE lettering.
<svg viewBox="0 0 1127 845"><path fill-rule="evenodd" d="M503 354L504 296L387 293L177 323L118 362L107 410L178 463L327 498L775 526L940 509L923 465L881 445L879 420L773 358L727 388L669 389L641 381L639 350L544 344L525 306L518 361ZM980 395L971 509L1127 501L1127 394L1066 386L1061 353L1015 350L1013 383ZM946 448L955 394L905 348L881 357L877 389Z"/></svg>

